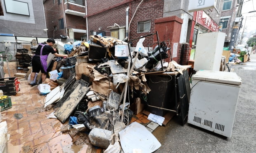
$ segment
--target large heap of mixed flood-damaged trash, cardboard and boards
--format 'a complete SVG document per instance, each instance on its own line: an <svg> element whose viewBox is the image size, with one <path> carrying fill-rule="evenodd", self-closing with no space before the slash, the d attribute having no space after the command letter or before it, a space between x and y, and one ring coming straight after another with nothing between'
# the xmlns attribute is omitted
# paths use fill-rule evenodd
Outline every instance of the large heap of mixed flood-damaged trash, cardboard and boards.
<svg viewBox="0 0 256 153"><path fill-rule="evenodd" d="M82 137L82 132L88 134L90 140L84 142L106 149L104 153L119 153L121 148L124 152L133 149L125 147L128 141L125 138L129 133L123 129L139 130L144 127L136 123L129 125L133 116L129 106L137 98L147 104L150 88L145 74L180 72L179 66L182 67L174 61L164 62L171 49L165 42L147 51L142 45L144 39L140 38L135 51L131 51L127 42L100 35L90 36L90 42L61 45L69 56L55 59L50 79L46 79L44 87L40 87L50 90L40 93L47 94L45 108L53 107L53 114L62 123L69 121L69 126L62 132L69 132L74 144L81 143L76 142L76 138ZM59 46L60 42L57 44ZM56 86L56 82L60 86ZM54 88L46 87L46 84ZM144 134L136 137L144 139L153 136L150 132ZM145 145L145 142L136 143ZM153 152L161 146L157 140L146 144L152 143L155 147L149 146L146 152Z"/></svg>

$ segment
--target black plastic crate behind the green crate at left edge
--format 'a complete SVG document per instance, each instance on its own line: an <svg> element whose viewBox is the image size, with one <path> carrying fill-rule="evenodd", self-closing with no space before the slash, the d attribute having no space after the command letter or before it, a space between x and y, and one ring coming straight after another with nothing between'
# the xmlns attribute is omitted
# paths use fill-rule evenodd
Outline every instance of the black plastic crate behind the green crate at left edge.
<svg viewBox="0 0 256 153"><path fill-rule="evenodd" d="M0 78L0 90L4 95L16 95L19 91L19 82L17 77Z"/></svg>

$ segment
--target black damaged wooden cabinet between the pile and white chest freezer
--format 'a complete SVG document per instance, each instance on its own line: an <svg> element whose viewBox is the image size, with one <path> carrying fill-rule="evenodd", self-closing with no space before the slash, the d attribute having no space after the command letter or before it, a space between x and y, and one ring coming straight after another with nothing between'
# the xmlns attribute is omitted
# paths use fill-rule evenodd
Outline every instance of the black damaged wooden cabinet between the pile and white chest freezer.
<svg viewBox="0 0 256 153"><path fill-rule="evenodd" d="M145 74L151 91L147 94L147 111L164 116L168 111L179 116L181 124L187 121L190 82L188 71Z"/></svg>

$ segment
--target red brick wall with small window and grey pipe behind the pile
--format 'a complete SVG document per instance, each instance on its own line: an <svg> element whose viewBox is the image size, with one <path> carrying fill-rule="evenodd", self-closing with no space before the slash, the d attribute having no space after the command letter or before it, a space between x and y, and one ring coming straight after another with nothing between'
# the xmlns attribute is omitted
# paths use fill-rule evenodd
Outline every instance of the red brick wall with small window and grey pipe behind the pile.
<svg viewBox="0 0 256 153"><path fill-rule="evenodd" d="M121 5L119 7L115 7L113 9L109 9L103 13L99 13L93 16L90 16L91 13L100 11L102 9L106 9L111 5L116 5L119 2L123 2L123 0L106 2L106 0L98 0L97 4L92 0L88 0L88 30L89 31L99 31L99 27L102 28L102 31L106 32L106 35L110 35L110 30L107 29L108 26L113 26L114 23L119 24L119 26L126 26L126 8L129 6L129 22L132 18L136 7L139 5L139 0L134 0L125 5ZM114 4L113 4L114 2ZM137 9L137 12L133 18L133 21L130 24L130 40L138 38L140 36L149 35L154 33L154 19L161 18L163 16L163 8L164 8L164 0L144 0L140 7ZM151 28L149 32L137 33L137 23L138 21L147 21L151 20ZM132 46L136 46L138 40L133 41ZM153 36L149 36L145 39L143 45L147 47L147 45L152 46L153 44Z"/></svg>

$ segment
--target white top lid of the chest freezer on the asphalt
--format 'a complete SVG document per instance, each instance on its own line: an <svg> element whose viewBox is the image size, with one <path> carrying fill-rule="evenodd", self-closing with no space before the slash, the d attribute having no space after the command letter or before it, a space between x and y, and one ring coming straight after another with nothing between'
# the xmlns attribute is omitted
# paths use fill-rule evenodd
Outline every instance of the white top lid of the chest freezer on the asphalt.
<svg viewBox="0 0 256 153"><path fill-rule="evenodd" d="M242 79L235 72L200 70L192 76L192 80L210 81L232 85L241 85Z"/></svg>

